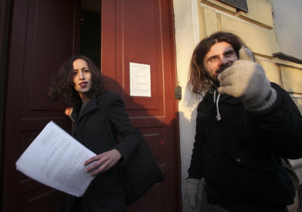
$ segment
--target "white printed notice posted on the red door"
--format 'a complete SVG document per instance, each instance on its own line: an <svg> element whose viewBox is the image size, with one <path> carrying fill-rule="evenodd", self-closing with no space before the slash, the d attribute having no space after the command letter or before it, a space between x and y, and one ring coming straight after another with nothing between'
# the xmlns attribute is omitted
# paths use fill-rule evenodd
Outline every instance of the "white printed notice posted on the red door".
<svg viewBox="0 0 302 212"><path fill-rule="evenodd" d="M151 97L150 65L130 63L130 96Z"/></svg>

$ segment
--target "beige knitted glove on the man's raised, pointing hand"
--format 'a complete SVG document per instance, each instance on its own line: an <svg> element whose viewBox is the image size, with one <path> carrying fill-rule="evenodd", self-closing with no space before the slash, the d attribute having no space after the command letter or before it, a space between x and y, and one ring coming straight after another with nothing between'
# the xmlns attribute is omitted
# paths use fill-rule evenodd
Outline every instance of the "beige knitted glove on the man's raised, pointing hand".
<svg viewBox="0 0 302 212"><path fill-rule="evenodd" d="M249 111L264 111L277 99L263 67L254 62L252 52L245 46L239 50L239 60L218 75L218 80L218 92L239 98Z"/></svg>

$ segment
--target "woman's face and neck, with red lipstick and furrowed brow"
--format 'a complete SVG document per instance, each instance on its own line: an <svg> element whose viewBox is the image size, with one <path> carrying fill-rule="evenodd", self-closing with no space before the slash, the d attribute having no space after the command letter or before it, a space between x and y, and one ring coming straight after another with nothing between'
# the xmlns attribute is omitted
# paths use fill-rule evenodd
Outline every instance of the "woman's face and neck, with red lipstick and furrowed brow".
<svg viewBox="0 0 302 212"><path fill-rule="evenodd" d="M89 98L85 95L91 89L91 72L87 62L83 59L76 59L73 62L73 72L76 91L79 92L83 102L89 101Z"/></svg>

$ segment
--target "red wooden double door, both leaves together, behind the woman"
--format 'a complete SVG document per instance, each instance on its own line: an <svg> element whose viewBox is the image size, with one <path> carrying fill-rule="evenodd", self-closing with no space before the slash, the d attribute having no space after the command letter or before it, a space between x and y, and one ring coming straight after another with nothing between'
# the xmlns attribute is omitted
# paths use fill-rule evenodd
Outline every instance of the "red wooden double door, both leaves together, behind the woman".
<svg viewBox="0 0 302 212"><path fill-rule="evenodd" d="M79 52L80 0L14 0L4 110L3 211L63 211L64 193L15 170L15 161L50 120L69 130L64 103L46 88ZM180 155L171 0L103 0L102 71L123 97L165 174L128 211L180 211ZM151 97L129 96L129 63L150 65Z"/></svg>

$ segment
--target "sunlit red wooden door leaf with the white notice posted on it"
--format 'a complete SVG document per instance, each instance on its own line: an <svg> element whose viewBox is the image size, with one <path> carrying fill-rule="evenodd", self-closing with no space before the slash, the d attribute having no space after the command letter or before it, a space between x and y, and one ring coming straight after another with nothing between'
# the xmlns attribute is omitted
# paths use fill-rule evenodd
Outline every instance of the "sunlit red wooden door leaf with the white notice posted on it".
<svg viewBox="0 0 302 212"><path fill-rule="evenodd" d="M101 69L140 127L166 180L128 211L180 211L174 28L170 0L103 0ZM150 65L151 97L130 96L129 63Z"/></svg>

